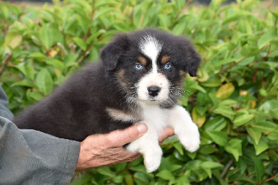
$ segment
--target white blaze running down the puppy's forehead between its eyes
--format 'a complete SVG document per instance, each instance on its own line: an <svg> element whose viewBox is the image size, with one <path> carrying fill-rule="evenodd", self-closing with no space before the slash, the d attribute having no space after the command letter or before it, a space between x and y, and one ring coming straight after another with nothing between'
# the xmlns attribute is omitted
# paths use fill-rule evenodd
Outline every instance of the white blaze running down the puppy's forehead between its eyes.
<svg viewBox="0 0 278 185"><path fill-rule="evenodd" d="M152 60L152 72L157 73L156 60L162 48L161 42L158 42L158 40L151 35L146 35L140 40L139 48L143 54Z"/></svg>

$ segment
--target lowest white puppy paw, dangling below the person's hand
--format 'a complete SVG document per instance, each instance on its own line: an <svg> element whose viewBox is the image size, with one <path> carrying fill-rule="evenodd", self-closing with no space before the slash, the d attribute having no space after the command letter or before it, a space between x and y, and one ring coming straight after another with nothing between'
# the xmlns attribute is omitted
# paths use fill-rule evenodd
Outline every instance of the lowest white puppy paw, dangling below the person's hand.
<svg viewBox="0 0 278 185"><path fill-rule="evenodd" d="M144 163L147 172L154 172L161 165L162 150L144 155Z"/></svg>

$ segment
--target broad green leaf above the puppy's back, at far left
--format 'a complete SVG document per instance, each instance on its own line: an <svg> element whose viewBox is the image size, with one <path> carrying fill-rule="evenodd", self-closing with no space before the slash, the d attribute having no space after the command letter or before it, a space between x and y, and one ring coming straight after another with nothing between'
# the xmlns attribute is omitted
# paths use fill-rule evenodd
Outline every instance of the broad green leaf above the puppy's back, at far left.
<svg viewBox="0 0 278 185"><path fill-rule="evenodd" d="M42 70L38 72L35 83L44 95L49 95L52 92L53 80L47 69L42 68Z"/></svg>

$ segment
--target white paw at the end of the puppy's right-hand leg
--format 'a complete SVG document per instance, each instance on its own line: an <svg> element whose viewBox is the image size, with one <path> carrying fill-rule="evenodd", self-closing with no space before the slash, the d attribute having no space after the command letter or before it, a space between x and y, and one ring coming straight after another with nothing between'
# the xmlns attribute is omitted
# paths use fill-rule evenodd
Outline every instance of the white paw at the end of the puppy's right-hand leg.
<svg viewBox="0 0 278 185"><path fill-rule="evenodd" d="M189 152L195 152L199 148L199 131L196 124L186 130L184 134L179 135L179 141Z"/></svg>

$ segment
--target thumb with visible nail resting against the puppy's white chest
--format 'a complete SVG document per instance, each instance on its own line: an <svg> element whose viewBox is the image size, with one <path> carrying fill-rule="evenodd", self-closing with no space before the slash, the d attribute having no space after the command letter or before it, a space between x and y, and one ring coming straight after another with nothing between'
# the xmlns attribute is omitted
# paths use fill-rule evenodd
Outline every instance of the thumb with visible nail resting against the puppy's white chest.
<svg viewBox="0 0 278 185"><path fill-rule="evenodd" d="M106 144L109 147L122 147L127 143L140 138L147 131L146 124L134 124L133 126L124 129L116 130L106 135Z"/></svg>

